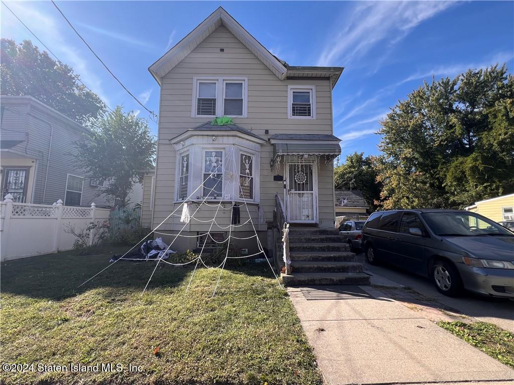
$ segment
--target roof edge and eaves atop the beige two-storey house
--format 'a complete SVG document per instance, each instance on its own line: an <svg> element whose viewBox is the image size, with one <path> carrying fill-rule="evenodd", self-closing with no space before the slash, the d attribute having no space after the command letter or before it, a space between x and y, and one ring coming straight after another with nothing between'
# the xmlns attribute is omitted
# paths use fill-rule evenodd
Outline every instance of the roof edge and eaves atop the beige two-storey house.
<svg viewBox="0 0 514 385"><path fill-rule="evenodd" d="M329 78L332 88L339 80L343 67L309 67L290 66L279 57L269 52L255 37L253 37L241 24L227 12L219 7L212 12L195 29L182 38L172 49L160 57L148 70L161 85L162 76L170 72L178 63L189 55L201 42L205 40L216 28L220 26L227 28L248 50L273 72L277 78Z"/></svg>

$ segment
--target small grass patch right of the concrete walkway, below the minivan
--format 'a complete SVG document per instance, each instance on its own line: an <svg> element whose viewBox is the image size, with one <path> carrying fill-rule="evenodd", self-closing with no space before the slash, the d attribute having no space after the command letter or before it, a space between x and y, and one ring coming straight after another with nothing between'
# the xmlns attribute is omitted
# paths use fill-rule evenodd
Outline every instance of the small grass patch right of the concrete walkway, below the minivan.
<svg viewBox="0 0 514 385"><path fill-rule="evenodd" d="M441 328L514 369L514 334L488 322L437 322Z"/></svg>

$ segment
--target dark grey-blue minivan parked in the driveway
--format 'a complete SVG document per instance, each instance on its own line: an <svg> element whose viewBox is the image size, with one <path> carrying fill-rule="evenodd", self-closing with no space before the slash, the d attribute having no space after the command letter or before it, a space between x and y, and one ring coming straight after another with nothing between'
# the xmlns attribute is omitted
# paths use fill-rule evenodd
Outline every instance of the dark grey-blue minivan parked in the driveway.
<svg viewBox="0 0 514 385"><path fill-rule="evenodd" d="M462 210L373 213L362 229L369 263L390 262L431 278L440 293L462 288L514 298L514 234Z"/></svg>

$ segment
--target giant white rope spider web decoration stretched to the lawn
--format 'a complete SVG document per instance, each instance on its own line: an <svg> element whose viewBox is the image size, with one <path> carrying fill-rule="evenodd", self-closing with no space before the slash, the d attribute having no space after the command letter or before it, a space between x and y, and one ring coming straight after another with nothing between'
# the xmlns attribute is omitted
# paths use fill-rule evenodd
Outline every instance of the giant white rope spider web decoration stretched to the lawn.
<svg viewBox="0 0 514 385"><path fill-rule="evenodd" d="M144 292L146 291L146 288L148 288L148 285L150 284L150 281L152 280L152 277L154 276L154 273L156 272L157 270L157 267L159 266L159 263L160 262L164 262L164 263L167 263L169 265L173 265L173 266L183 266L183 265L188 265L190 263L195 263L195 267L193 269L193 273L191 274L191 278L189 279L189 283L187 285L187 288L186 288L186 292L189 290L189 287L191 286L191 283L193 281L193 277L194 277L194 274L196 273L196 269L198 268L198 265L199 263L201 263L204 267L206 268L209 268L209 269L216 269L216 268L220 268L221 267L221 271L219 272L219 276L218 276L218 279L216 281L216 285L214 287L214 291L212 292L212 297L214 297L214 295L216 294L216 290L217 290L217 287L219 285L219 281L221 280L221 277L222 277L222 274L223 274L223 270L225 268L225 264L227 263L227 260L228 259L240 259L240 258L250 258L250 257L255 257L257 255L263 255L264 256L264 259L268 262L268 265L271 269L271 272L273 273L273 276L275 277L275 279L278 280L278 276L277 274L275 273L273 267L271 266L271 263L269 262L269 259L266 255L266 252L264 251L264 247L262 246L262 243L261 243L261 240L259 239L259 236L257 234L257 230L255 229L255 225L253 223L253 220L252 220L252 216L250 214L250 210L248 208L248 203L246 201L246 198L245 198L245 194L244 194L244 190L243 190L243 187L241 186L241 179L240 181L237 183L237 185L239 186L239 189L240 189L240 198L241 200L243 201L243 203L241 202L237 202L238 205L241 207L241 206L245 206L246 208L246 212L248 214L248 219L243 222L243 223L240 223L240 224L232 224L232 214L233 214L233 210L234 210L234 204L235 204L235 200L232 201L232 207L231 207L231 215L230 215L230 218L231 218L231 224L228 225L228 226L222 226L222 225L219 225L217 222L216 222L216 216L219 212L219 208L223 206L223 200L220 200L219 203L217 204L210 204L210 203L207 203L207 199L209 198L210 196L210 193L212 191L215 191L215 188L216 186L218 185L219 182L222 182L222 184L224 182L230 182L231 183L236 183L235 182L235 177L237 176L236 172L235 172L235 160L234 160L234 146L232 146L230 148L229 151L227 151L227 156L223 159L223 161L220 161L220 162L217 162L215 160L213 160L213 163L214 163L214 167L211 168L210 170L210 174L207 178L204 178L204 181L202 183L200 183L200 185L198 187L196 187L196 189L191 192L191 194L187 197L187 199L184 200L184 202L188 202L188 201L192 201L191 200L191 197L194 196L194 194L196 193L196 191L198 191L200 188L204 188L206 187L206 182L208 181L212 181L212 180L215 180L215 184L214 186L212 186L211 188L207 187L207 189L209 190L209 194L203 194L205 197L203 198L203 200L201 200L200 202L196 202L194 201L194 203L198 204L198 207L196 208L196 210L194 211L194 213L190 216L190 219L188 221L186 221L186 223L184 223L184 225L182 226L182 228L179 230L179 232L177 234L170 234L170 233L163 233L163 232L158 232L157 230L159 229L160 226L162 226L166 221L168 221L170 218L172 218L173 216L177 216L177 217L180 217L180 214L176 214L177 210L179 210L181 207L182 207L182 204L180 204L177 208L175 208L172 213L170 215L168 215L168 217L164 218L164 220L162 222L160 222L149 234L147 234L144 238L142 238L139 242L137 242L134 246L132 246L130 249L128 249L127 252L125 252L125 254L123 254L119 259L115 260L114 262L112 262L111 264L109 264L108 266L106 266L105 268L103 268L101 271L99 271L97 274L95 274L93 277L89 278L87 281L83 282L81 285L79 285L78 287L81 287L82 285L86 284L87 282L89 282L90 280L94 279L95 277L97 277L98 275L100 275L101 273L103 273L106 269L108 269L109 267L113 266L116 262L120 261L120 260L134 260L132 258L125 258L125 256L130 253L135 247L137 247L141 242L143 242L146 238L148 238L150 235L152 235L152 233L155 233L155 234L160 234L160 235L166 235L166 236L172 236L174 237L173 240L171 241L171 243L169 244L169 246L166 248L166 250L160 254L159 258L156 259L157 263L155 264L155 268L153 269L152 271L152 274L150 275L150 278L148 279L148 282L146 282L146 285L144 286L144 289L143 289L143 292L141 293L144 294ZM214 157L214 156L213 156ZM231 163L231 168L229 168L227 170L227 168L225 170L223 170L223 163L225 161L227 161L227 163ZM248 173L248 169L249 169L249 164L245 164L245 167L246 167L246 171L245 171L245 175L249 176L249 173ZM221 168L221 171L220 171L220 168ZM216 178L216 175L220 175L222 174L223 177L222 178ZM243 176L243 174L241 173L241 176ZM248 181L248 179L247 179ZM209 206L209 207L216 207L216 212L213 216L212 219L209 219L209 220L201 220L199 218L196 218L195 217L195 214L198 212L198 210L202 207L202 206ZM224 206L223 206L224 207ZM259 209L258 209L258 212L257 212L257 217L260 218L260 213L259 213ZM210 223L210 226L209 226L209 229L207 231L207 233L204 233L204 234L199 234L199 235L195 235L195 236L192 236L192 235L182 235L182 231L188 226L188 224L192 221L192 220L195 220L197 222L200 222L200 223ZM253 233L254 235L250 236L250 237L236 237L236 236L233 236L232 235L232 230L236 227L241 227L241 226L244 226L246 224L250 223L251 224L251 227L253 229ZM228 237L224 240L224 241L221 241L221 242L218 242L214 239L214 237L212 237L211 235L211 230L214 226L214 224L217 226L217 228L221 228L221 229L228 229L228 232L229 232L229 235ZM173 226L173 225L172 225ZM163 259L164 256L167 255L170 247L173 245L173 243L179 238L179 237L186 237L186 238L199 238L199 237L204 237L205 236L205 240L204 240L204 243L201 247L201 250L200 250L200 254L194 258L193 260L189 261L189 262L186 262L186 263L172 263L172 262L169 262L169 261L166 261ZM223 259L222 263L220 263L218 266L208 266L204 259L202 258L202 254L204 253L204 249L205 249L205 246L207 244L207 240L208 239L211 239L212 241L214 241L215 243L219 243L219 244L223 244L223 243L227 243L227 250L226 250L226 253L225 253L225 258ZM245 255L245 256L239 256L239 257L231 257L229 256L229 248L230 248L230 240L231 239L239 239L239 240L246 240L246 239L252 239L252 238L255 238L256 239L256 242L257 242L257 247L258 247L258 250L259 252L258 253L254 253L254 254L251 254L251 255ZM280 283L279 283L280 284Z"/></svg>

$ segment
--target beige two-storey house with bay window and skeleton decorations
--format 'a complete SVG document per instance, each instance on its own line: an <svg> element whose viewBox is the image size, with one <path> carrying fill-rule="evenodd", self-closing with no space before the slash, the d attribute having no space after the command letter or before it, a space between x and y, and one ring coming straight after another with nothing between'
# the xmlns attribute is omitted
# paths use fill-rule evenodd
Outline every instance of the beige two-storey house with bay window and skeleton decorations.
<svg viewBox="0 0 514 385"><path fill-rule="evenodd" d="M183 228L191 238L177 239L173 249L196 247L194 237L214 217L211 232L226 234L233 203L244 202L232 234L253 234L248 208L269 245L276 195L291 226L334 227L333 160L341 149L332 89L343 68L290 66L220 7L149 70L160 86L160 113L156 174L146 178L154 181L153 199L143 202L142 217L154 227L164 221L159 231ZM222 116L233 124L211 124ZM223 172L209 179L216 166ZM200 207L204 198L211 206ZM184 202L192 203L191 214L197 210L188 223L180 222Z"/></svg>

